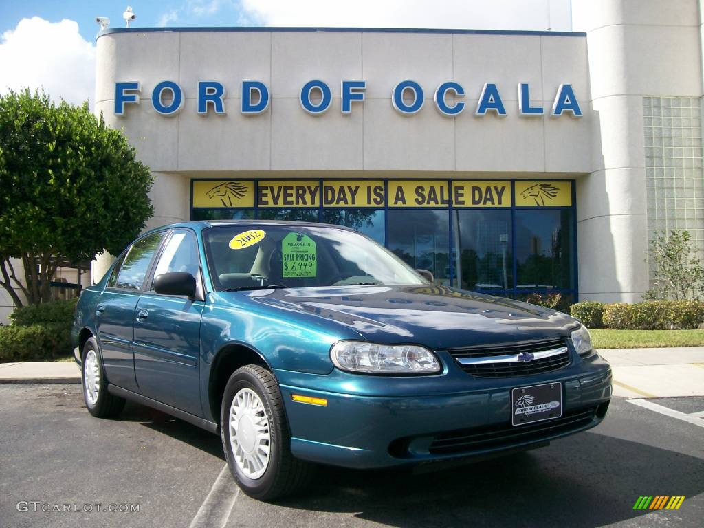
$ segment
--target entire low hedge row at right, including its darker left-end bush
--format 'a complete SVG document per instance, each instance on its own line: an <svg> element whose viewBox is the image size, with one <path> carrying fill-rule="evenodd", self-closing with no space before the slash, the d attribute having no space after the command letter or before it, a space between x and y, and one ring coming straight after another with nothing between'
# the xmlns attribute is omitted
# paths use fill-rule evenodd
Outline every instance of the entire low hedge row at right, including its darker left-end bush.
<svg viewBox="0 0 704 528"><path fill-rule="evenodd" d="M584 301L570 306L570 314L589 328L696 329L704 322L704 302L643 301L633 304L605 304Z"/></svg>

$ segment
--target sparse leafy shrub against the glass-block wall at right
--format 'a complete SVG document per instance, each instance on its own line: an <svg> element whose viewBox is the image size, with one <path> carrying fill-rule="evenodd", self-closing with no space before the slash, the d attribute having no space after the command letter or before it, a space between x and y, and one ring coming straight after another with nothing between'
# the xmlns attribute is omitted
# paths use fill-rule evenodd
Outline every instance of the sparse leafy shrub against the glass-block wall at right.
<svg viewBox="0 0 704 528"><path fill-rule="evenodd" d="M704 267L689 232L672 230L656 233L650 241L650 258L655 264L653 288L646 299L698 300L704 287Z"/></svg>

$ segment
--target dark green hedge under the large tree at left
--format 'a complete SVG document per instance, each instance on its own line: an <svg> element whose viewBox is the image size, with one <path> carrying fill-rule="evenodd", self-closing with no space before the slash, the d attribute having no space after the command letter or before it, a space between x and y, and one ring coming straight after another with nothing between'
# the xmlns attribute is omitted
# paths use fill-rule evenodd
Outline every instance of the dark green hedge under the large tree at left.
<svg viewBox="0 0 704 528"><path fill-rule="evenodd" d="M0 327L0 363L70 356L76 301L34 304L11 313L13 324Z"/></svg>

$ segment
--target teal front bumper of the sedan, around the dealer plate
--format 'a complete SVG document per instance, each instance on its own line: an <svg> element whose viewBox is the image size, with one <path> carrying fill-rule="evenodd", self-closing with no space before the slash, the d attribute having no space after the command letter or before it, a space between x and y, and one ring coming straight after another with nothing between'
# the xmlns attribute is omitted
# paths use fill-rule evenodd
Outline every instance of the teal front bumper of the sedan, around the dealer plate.
<svg viewBox="0 0 704 528"><path fill-rule="evenodd" d="M449 366L427 377L275 370L292 453L366 469L531 448L598 425L611 398L611 369L596 354L548 374L503 379L472 377L449 355L441 359ZM511 389L549 382L562 383L562 418L512 427ZM293 394L327 406L292 401Z"/></svg>

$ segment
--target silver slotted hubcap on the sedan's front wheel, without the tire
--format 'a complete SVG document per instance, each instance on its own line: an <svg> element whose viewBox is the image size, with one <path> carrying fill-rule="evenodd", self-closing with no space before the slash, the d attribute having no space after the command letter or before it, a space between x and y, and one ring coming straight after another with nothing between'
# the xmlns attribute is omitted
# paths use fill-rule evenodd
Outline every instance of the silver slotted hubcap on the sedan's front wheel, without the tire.
<svg viewBox="0 0 704 528"><path fill-rule="evenodd" d="M258 394L240 389L230 406L230 446L239 470L250 479L261 477L269 466L269 419Z"/></svg>

